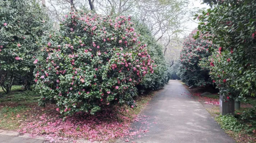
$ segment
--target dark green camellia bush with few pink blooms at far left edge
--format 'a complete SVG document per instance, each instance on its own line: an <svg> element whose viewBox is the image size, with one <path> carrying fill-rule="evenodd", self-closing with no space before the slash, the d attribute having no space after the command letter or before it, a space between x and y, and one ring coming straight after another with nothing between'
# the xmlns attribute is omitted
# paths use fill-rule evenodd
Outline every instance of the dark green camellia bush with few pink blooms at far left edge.
<svg viewBox="0 0 256 143"><path fill-rule="evenodd" d="M30 87L37 42L51 26L45 10L33 0L1 0L0 18L0 85L8 94L19 80Z"/></svg>

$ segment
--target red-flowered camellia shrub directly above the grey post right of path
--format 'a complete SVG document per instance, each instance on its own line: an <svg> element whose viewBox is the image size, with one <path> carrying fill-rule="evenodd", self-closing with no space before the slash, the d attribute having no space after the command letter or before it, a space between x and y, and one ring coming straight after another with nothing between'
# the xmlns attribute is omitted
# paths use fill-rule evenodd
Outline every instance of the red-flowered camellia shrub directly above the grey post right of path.
<svg viewBox="0 0 256 143"><path fill-rule="evenodd" d="M215 84L216 88L220 89L220 95L225 95L227 100L238 98L239 90L234 88L232 81L239 73L230 74L230 71L241 69L241 65L237 64L230 56L231 54L227 51L215 51L212 52L211 56L200 61L202 68L210 70L209 75L212 83Z"/></svg>

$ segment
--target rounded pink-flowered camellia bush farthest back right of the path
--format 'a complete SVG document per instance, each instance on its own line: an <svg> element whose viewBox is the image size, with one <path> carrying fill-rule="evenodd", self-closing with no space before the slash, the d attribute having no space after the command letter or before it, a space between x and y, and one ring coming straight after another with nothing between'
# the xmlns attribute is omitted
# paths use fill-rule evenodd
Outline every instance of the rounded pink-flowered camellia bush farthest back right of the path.
<svg viewBox="0 0 256 143"><path fill-rule="evenodd" d="M199 34L199 38L194 39L193 36ZM198 30L192 31L184 40L182 50L180 52L180 72L179 76L182 82L187 85L206 86L212 81L209 78L209 70L201 68L199 62L202 58L211 55L209 48L213 48L212 42L203 39L203 34ZM206 35L210 36L210 35Z"/></svg>

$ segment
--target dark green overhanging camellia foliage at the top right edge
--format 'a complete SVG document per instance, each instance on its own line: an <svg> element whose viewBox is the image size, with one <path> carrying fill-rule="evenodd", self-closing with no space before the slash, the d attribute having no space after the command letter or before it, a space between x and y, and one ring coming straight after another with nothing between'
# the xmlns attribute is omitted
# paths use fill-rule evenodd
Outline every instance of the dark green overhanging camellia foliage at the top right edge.
<svg viewBox="0 0 256 143"><path fill-rule="evenodd" d="M200 21L198 29L202 33L212 34L206 39L221 47L223 54L226 53L225 51L230 53L228 56L222 55L221 57L224 58L220 61L223 63L218 65L220 71L232 75L230 80L227 79L226 84L240 91L241 97L255 96L255 0L204 0L204 2L210 4L211 8L201 15L196 15ZM210 51L214 50L211 49ZM228 58L231 61L227 64ZM215 62L217 61L215 60ZM217 68L216 64L215 67ZM215 76L212 75L212 78L218 77L218 75Z"/></svg>

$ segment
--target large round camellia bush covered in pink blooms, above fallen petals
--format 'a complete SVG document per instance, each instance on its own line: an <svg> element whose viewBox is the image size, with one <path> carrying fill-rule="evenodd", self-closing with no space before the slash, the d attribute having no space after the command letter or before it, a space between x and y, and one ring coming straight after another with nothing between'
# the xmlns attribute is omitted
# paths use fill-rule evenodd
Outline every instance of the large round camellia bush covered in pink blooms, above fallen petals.
<svg viewBox="0 0 256 143"><path fill-rule="evenodd" d="M154 73L147 45L139 41L131 16L102 16L81 11L65 15L57 33L49 34L36 57L35 89L40 104L57 104L61 114L100 106L134 107L136 85Z"/></svg>

